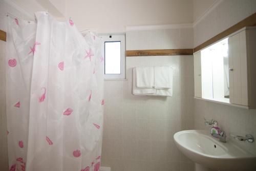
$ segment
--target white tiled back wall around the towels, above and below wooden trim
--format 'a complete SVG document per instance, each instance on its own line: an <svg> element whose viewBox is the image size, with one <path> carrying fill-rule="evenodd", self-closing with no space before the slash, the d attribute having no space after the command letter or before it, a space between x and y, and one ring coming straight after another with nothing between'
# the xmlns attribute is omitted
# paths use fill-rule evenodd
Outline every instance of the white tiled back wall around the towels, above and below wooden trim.
<svg viewBox="0 0 256 171"><path fill-rule="evenodd" d="M191 48L192 40L192 28L129 31L126 49ZM138 66L172 66L174 96L132 95L132 69ZM127 80L105 81L103 166L113 171L194 170L173 139L174 133L194 127L193 73L193 56L126 57Z"/></svg>

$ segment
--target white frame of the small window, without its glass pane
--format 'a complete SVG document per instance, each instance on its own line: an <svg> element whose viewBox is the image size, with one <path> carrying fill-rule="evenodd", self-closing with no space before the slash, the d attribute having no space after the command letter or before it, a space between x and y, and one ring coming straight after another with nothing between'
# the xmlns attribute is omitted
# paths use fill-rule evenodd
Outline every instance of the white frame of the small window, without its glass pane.
<svg viewBox="0 0 256 171"><path fill-rule="evenodd" d="M102 46L104 55L104 79L125 79L125 34L102 34ZM105 42L120 41L120 73L121 74L105 74Z"/></svg>

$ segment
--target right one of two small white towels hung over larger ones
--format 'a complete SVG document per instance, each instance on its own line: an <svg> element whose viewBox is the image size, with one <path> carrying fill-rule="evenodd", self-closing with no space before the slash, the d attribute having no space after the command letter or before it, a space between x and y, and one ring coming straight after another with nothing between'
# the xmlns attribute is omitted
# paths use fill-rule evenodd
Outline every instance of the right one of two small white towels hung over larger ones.
<svg viewBox="0 0 256 171"><path fill-rule="evenodd" d="M154 88L155 89L172 89L173 88L172 67L155 67Z"/></svg>

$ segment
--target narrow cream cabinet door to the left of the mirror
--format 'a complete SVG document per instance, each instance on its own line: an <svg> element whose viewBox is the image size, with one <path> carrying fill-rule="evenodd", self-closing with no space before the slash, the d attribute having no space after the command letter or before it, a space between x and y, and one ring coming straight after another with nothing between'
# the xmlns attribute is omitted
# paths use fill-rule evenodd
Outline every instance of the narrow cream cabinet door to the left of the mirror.
<svg viewBox="0 0 256 171"><path fill-rule="evenodd" d="M194 86L195 97L202 98L201 52L194 54Z"/></svg>

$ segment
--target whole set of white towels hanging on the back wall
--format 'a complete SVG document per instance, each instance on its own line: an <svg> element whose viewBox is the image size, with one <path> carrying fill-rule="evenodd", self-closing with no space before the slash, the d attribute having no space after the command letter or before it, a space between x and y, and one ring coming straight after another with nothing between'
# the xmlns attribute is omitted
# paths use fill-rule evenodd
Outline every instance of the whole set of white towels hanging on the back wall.
<svg viewBox="0 0 256 171"><path fill-rule="evenodd" d="M134 68L133 94L151 96L173 96L172 67Z"/></svg>

